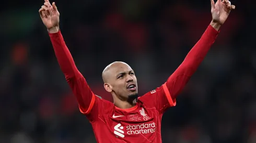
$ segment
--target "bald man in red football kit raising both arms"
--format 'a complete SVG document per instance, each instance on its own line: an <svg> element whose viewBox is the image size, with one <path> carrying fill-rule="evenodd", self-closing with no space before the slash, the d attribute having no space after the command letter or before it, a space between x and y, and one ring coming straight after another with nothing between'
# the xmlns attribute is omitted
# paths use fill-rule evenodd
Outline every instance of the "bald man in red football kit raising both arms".
<svg viewBox="0 0 256 143"><path fill-rule="evenodd" d="M48 29L55 55L66 81L86 115L97 142L161 142L162 114L176 105L176 97L202 62L234 5L228 0L211 0L212 21L166 83L138 98L136 76L124 62L113 62L102 72L104 88L113 103L95 95L75 63L59 28L60 13L55 3L45 0L41 19Z"/></svg>

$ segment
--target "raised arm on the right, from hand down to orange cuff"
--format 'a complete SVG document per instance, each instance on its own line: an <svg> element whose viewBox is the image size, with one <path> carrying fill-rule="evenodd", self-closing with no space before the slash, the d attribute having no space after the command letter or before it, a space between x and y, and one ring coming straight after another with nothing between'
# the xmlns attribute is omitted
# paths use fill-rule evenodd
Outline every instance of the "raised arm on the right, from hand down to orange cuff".
<svg viewBox="0 0 256 143"><path fill-rule="evenodd" d="M185 57L179 68L169 77L166 82L166 86L172 99L177 97L185 84L187 84L189 81L192 74L203 61L208 50L214 43L221 25L226 21L231 9L235 9L235 6L231 5L228 0L217 0L216 4L214 3L214 0L211 0L212 22L200 40L190 50L189 54L187 57Z"/></svg>

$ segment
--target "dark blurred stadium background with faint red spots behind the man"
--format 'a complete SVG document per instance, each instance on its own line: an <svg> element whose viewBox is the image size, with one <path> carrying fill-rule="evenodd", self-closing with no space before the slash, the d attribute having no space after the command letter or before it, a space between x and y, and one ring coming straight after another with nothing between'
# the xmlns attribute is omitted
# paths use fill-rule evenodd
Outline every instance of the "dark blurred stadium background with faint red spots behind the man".
<svg viewBox="0 0 256 143"><path fill-rule="evenodd" d="M209 0L55 2L78 69L110 101L101 79L109 63L130 64L143 95L167 80L211 21ZM0 9L0 142L96 142L56 61L42 4L13 0ZM232 4L206 59L164 115L164 143L256 142L254 5Z"/></svg>

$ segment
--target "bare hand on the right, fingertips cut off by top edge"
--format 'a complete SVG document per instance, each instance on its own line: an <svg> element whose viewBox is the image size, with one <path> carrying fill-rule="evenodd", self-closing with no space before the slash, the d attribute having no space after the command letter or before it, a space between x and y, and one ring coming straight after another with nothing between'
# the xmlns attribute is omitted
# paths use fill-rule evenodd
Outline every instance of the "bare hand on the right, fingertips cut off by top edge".
<svg viewBox="0 0 256 143"><path fill-rule="evenodd" d="M217 0L216 3L211 0L211 6L213 21L221 25L227 20L230 10L235 9L228 0Z"/></svg>

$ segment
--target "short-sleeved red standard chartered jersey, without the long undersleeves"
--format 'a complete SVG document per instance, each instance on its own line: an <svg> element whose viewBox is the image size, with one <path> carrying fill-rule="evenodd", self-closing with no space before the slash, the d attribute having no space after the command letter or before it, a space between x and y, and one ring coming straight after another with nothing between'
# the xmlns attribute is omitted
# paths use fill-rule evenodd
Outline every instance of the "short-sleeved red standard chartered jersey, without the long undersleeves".
<svg viewBox="0 0 256 143"><path fill-rule="evenodd" d="M166 84L139 97L130 109L117 108L112 102L92 96L94 102L86 116L97 142L161 142L162 114L176 105Z"/></svg>

